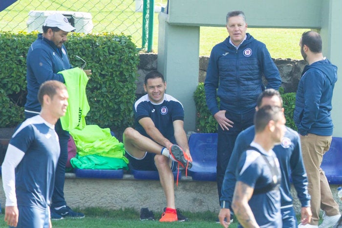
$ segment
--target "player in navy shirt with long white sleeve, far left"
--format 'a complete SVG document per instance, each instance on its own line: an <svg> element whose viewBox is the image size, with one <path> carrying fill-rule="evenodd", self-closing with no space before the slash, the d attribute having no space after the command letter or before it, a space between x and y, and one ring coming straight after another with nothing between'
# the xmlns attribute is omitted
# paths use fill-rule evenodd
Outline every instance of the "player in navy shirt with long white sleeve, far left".
<svg viewBox="0 0 342 228"><path fill-rule="evenodd" d="M26 119L12 136L2 163L5 222L17 228L51 228L50 200L60 155L57 120L65 114L65 85L51 80L38 92L39 115Z"/></svg>

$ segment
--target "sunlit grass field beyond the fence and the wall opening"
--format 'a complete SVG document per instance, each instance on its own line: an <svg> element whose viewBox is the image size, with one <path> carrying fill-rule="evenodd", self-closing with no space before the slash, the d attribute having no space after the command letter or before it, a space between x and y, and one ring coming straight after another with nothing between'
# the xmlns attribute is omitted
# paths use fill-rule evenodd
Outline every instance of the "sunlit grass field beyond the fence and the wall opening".
<svg viewBox="0 0 342 228"><path fill-rule="evenodd" d="M155 0L155 5L165 5L167 0ZM123 32L131 35L137 47L141 47L142 13L134 12L134 0L18 0L0 12L0 30L27 31L26 21L30 10L63 10L90 12L93 32ZM224 18L225 15L222 15ZM153 20L153 52L158 50L158 14ZM248 28L257 40L266 44L273 58L302 59L299 37L307 29ZM212 47L228 36L225 27L201 27L199 54L210 55Z"/></svg>

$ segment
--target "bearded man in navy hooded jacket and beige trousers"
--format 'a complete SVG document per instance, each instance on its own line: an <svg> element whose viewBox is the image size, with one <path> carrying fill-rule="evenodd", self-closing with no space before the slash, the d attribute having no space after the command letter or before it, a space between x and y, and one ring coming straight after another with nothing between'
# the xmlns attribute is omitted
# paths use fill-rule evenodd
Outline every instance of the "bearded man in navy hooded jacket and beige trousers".
<svg viewBox="0 0 342 228"><path fill-rule="evenodd" d="M299 228L329 228L341 217L329 182L321 169L323 155L329 150L334 124L331 118L332 96L337 81L337 67L322 54L322 39L314 31L301 36L300 52L309 65L305 66L296 93L293 119L298 128L303 161L311 195L312 221ZM340 168L340 167L339 167ZM325 213L320 220L320 209Z"/></svg>

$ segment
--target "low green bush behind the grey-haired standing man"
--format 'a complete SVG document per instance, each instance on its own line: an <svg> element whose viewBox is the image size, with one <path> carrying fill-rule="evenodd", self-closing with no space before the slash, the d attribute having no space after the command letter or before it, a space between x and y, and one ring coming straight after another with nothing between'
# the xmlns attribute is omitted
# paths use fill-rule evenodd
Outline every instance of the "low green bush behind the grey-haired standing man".
<svg viewBox="0 0 342 228"><path fill-rule="evenodd" d="M284 90L279 89L280 93ZM297 131L297 127L293 121L293 112L295 110L296 103L296 93L284 93L281 94L283 99L283 107L285 109L286 126ZM204 92L204 83L199 83L196 90L193 93L193 98L196 105L196 131L198 133L216 133L217 132L217 122L214 116L210 113ZM219 99L217 99L219 101Z"/></svg>

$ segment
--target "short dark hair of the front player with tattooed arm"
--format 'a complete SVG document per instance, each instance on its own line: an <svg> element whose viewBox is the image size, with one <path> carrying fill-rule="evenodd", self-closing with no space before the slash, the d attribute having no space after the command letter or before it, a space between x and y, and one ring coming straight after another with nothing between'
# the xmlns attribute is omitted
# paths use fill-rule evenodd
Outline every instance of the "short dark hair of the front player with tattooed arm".
<svg viewBox="0 0 342 228"><path fill-rule="evenodd" d="M262 132L271 120L277 122L279 120L280 114L283 115L283 112L278 106L265 105L260 108L254 114L254 125L256 133Z"/></svg>

